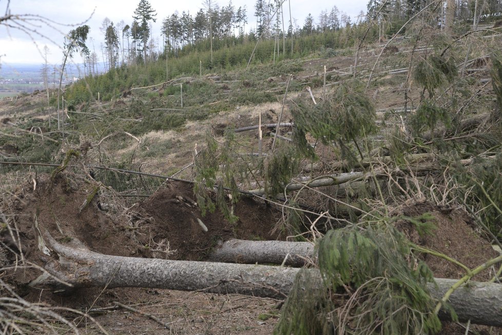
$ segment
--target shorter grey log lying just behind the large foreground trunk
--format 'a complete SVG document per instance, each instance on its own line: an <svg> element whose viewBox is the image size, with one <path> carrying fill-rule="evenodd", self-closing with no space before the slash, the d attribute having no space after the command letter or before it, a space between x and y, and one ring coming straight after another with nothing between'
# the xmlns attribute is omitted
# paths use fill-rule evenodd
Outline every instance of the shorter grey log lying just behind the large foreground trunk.
<svg viewBox="0 0 502 335"><path fill-rule="evenodd" d="M243 264L283 264L301 267L316 263L309 242L228 240L215 248L209 261Z"/></svg>

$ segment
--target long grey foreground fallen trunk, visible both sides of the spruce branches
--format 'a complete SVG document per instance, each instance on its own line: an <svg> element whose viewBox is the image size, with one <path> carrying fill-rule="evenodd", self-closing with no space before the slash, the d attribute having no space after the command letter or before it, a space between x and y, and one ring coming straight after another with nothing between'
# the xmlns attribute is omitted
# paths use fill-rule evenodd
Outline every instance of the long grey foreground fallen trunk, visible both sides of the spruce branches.
<svg viewBox="0 0 502 335"><path fill-rule="evenodd" d="M214 262L168 261L103 255L74 243L63 245L46 237L59 254L59 262L48 263L47 270L72 287L149 287L211 293L240 293L256 297L284 299L300 270L310 271L312 287L322 287L317 269L285 268L266 265ZM432 297L441 299L457 280L435 279L428 284ZM32 284L63 284L42 275ZM63 286L68 287L68 286ZM502 285L470 282L453 292L449 303L460 321L502 326ZM440 314L448 319L449 313Z"/></svg>

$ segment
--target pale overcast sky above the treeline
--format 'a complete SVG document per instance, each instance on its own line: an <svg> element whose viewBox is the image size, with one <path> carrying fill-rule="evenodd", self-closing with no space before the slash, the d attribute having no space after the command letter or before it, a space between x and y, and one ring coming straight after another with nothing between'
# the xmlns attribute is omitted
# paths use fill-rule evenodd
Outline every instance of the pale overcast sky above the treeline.
<svg viewBox="0 0 502 335"><path fill-rule="evenodd" d="M131 24L134 10L138 7L140 0L13 0L10 1L9 10L11 14L34 14L46 17L53 22L65 25L53 24L54 29L49 29L40 22L31 22L35 24L33 29L37 33L49 36L51 41L37 36L37 33L31 33L31 36L22 33L16 29L7 29L5 25L0 24L0 62L3 66L16 63L42 64L44 63L41 52L45 45L49 47L50 54L48 61L50 64L59 64L62 60L62 50L64 33L67 33L76 26L84 22L91 30L88 40L88 47L93 48L100 56L101 43L103 43L103 34L100 31L101 23L105 17L108 17L114 24L123 20L126 24ZM149 0L152 8L157 11L157 22L153 24L152 37L159 38L160 26L162 20L175 11L179 13L189 11L195 16L197 11L202 8L203 0ZM232 3L237 9L239 6L246 6L248 22L253 26L256 22L254 15L254 6L256 1L233 0ZM304 19L308 13L311 13L317 20L321 10L330 11L333 6L337 6L340 11L349 14L352 21L356 21L356 16L362 10L366 10L368 0L353 0L327 2L323 0L291 0L291 9L293 19L297 20L299 26L303 25ZM0 0L0 15L5 13L8 0ZM221 6L227 6L229 0L218 0L216 3ZM287 2L284 6L284 19L288 20L289 11ZM90 18L89 18L90 17ZM88 20L88 21L86 21ZM12 24L12 22L10 22ZM70 26L71 24L75 26ZM37 26L38 25L38 26ZM162 44L162 42L160 42ZM78 59L75 61L79 62Z"/></svg>

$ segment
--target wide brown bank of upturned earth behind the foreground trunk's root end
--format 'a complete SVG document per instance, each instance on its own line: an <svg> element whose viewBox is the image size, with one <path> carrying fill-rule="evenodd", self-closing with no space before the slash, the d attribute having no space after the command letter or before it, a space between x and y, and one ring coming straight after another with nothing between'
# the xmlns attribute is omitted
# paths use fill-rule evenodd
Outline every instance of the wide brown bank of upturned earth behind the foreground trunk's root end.
<svg viewBox="0 0 502 335"><path fill-rule="evenodd" d="M92 179L65 172L55 179L33 177L3 202L3 211L16 213L23 252L34 261L44 258L36 245L35 221L55 239L77 239L93 251L129 257L201 260L218 242L230 238L278 238L270 232L277 219L271 207L243 198L235 208L239 221L232 224L219 211L203 217L193 199L191 184L166 182L148 200L126 210L120 199ZM5 230L0 239L8 243L10 234Z"/></svg>

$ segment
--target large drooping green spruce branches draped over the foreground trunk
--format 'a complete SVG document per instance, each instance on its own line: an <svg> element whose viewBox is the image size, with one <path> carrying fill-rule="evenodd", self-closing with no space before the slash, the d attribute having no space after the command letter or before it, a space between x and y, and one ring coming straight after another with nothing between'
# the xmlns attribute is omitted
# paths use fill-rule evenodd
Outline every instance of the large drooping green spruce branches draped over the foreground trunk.
<svg viewBox="0 0 502 335"><path fill-rule="evenodd" d="M420 221L420 220L419 220ZM318 245L324 288L297 279L275 331L279 334L431 334L434 313L424 263L385 222L330 230ZM305 276L305 274L303 274ZM350 290L350 297L342 300ZM298 329L298 330L296 330Z"/></svg>

